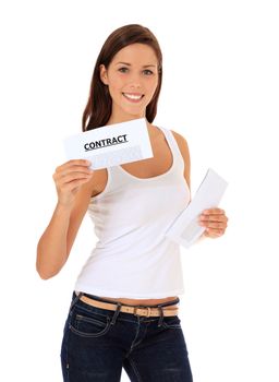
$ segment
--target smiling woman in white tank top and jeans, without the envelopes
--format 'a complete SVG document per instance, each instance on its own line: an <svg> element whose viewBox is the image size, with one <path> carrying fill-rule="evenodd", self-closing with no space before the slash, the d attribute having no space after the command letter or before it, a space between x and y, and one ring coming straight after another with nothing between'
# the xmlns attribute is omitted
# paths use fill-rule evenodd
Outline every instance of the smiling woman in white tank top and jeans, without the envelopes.
<svg viewBox="0 0 279 382"><path fill-rule="evenodd" d="M170 223L190 202L185 139L153 124L162 57L153 33L126 25L106 40L97 59L83 130L146 118L154 157L92 171L70 160L53 175L58 203L37 247L41 278L66 262L85 213L98 242L77 277L64 326L64 381L192 381L178 315L183 278ZM223 235L227 216L205 211L205 236Z"/></svg>

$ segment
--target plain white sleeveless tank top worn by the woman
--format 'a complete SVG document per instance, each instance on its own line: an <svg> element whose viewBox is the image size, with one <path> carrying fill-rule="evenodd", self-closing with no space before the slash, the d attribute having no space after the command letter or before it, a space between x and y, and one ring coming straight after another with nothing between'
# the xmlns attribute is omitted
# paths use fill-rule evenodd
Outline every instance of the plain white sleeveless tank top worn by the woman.
<svg viewBox="0 0 279 382"><path fill-rule="evenodd" d="M121 166L107 168L107 186L88 205L98 241L75 290L135 299L184 293L180 247L165 232L189 204L190 190L177 141L160 130L172 153L167 172L143 179Z"/></svg>

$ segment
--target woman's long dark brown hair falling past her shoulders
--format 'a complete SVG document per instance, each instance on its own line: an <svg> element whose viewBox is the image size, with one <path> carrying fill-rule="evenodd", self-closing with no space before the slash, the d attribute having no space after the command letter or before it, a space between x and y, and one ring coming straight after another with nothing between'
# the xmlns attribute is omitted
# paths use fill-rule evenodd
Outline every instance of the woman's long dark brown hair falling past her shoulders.
<svg viewBox="0 0 279 382"><path fill-rule="evenodd" d="M89 98L83 112L83 131L92 130L105 126L111 115L112 100L107 85L100 80L99 67L104 64L109 67L114 55L122 48L131 44L146 44L151 47L158 59L158 86L155 91L153 99L146 107L146 119L151 123L157 114L157 103L161 89L162 79L162 55L160 46L154 34L147 28L138 24L124 25L112 32L105 41L99 56L97 58L93 72ZM87 124L86 124L87 123Z"/></svg>

